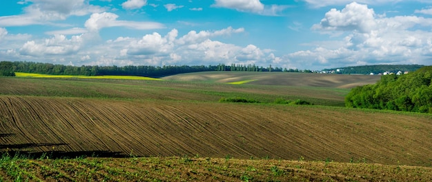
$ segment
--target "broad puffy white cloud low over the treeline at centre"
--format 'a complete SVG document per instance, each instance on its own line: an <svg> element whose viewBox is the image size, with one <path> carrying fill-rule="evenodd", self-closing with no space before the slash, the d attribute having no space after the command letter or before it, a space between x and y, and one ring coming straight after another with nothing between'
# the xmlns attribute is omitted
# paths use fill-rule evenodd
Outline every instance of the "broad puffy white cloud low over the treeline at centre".
<svg viewBox="0 0 432 182"><path fill-rule="evenodd" d="M141 38L119 37L108 41L104 46L93 47L92 50L104 49L109 54L97 62L119 62L130 60L130 65L208 65L223 62L226 64L253 64L255 62L275 62L280 60L271 56L268 50L259 49L255 45L240 47L233 44L214 41L210 38L231 36L244 32L244 28L227 27L222 30L192 30L179 36L176 29L166 35L158 32L146 34ZM96 58L97 56L92 56ZM101 61L104 60L104 61ZM267 64L267 63L264 63Z"/></svg>

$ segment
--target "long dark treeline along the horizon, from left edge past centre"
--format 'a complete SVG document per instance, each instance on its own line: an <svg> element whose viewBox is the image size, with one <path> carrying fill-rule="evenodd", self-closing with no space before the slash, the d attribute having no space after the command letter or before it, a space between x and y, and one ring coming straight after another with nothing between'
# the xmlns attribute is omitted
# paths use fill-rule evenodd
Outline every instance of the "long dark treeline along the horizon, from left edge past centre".
<svg viewBox="0 0 432 182"><path fill-rule="evenodd" d="M288 71L282 67L257 67L255 65L230 65L224 64L209 65L209 66L86 66L81 67L71 65L54 65L52 63L42 62L0 62L0 76L14 76L14 72L24 73L42 73L50 75L74 75L74 76L98 76L98 75L111 75L111 76L168 76L179 73L193 73L199 71ZM291 69L290 69L291 71ZM298 71L298 69L293 70Z"/></svg>

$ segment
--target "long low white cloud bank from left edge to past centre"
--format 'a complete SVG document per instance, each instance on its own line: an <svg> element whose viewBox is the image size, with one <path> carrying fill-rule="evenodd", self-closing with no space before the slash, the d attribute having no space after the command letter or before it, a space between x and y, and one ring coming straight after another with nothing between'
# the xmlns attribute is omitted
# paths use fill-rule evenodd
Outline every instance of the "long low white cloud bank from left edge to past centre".
<svg viewBox="0 0 432 182"><path fill-rule="evenodd" d="M99 14L100 15L100 14ZM114 21L113 19L108 19ZM93 30L109 27L109 23L96 23ZM0 29L5 34L5 29ZM1 47L0 56L10 60L57 62L70 65L215 65L255 64L266 66L274 62L283 63L268 49L256 45L238 45L210 40L244 32L244 28L227 27L213 31L190 31L179 36L176 29L165 35L158 32L145 34L141 38L119 36L109 41L94 41L95 34L87 32L79 36L55 34L46 39L21 38L21 45ZM67 32L67 31L66 31ZM73 31L71 31L73 32ZM52 32L55 33L55 32ZM2 43L8 43L9 35ZM6 42L5 42L6 40ZM6 51L8 50L8 51ZM61 58L59 58L61 56ZM69 62L69 63L68 63ZM275 63L276 64L276 63ZM276 65L273 65L276 66Z"/></svg>

